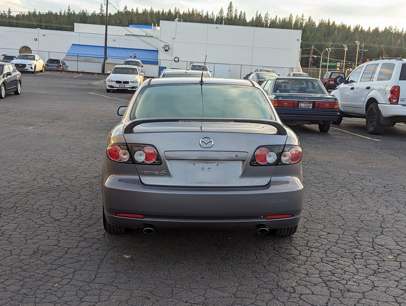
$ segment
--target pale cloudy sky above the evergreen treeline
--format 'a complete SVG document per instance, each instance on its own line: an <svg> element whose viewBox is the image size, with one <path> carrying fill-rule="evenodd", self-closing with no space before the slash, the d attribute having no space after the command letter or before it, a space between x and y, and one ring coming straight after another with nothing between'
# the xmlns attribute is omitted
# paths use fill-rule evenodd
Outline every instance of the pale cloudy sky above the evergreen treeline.
<svg viewBox="0 0 406 306"><path fill-rule="evenodd" d="M99 11L100 3L103 0L4 0L0 4L0 11L7 11L10 7L12 11L28 11L34 8L37 11L59 11L59 9L66 9L68 5L72 9L79 11L80 9L87 9L88 11ZM227 11L229 0L150 0L150 1L134 1L134 0L109 0L114 7L122 9L125 5L129 9L136 8L150 8L153 9L172 9L178 7L181 11L188 8L203 9L211 13L214 11L218 13L222 7ZM314 1L314 0L233 0L234 7L238 11L245 11L247 19L255 16L255 12L264 15L269 11L270 16L275 15L284 17L292 13L295 15L302 15L307 18L312 16L313 20L328 19L336 22L344 22L348 25L361 24L361 26L368 28L385 26L393 26L397 28L406 29L406 5L405 0L353 0L353 1ZM114 9L113 9L114 11Z"/></svg>

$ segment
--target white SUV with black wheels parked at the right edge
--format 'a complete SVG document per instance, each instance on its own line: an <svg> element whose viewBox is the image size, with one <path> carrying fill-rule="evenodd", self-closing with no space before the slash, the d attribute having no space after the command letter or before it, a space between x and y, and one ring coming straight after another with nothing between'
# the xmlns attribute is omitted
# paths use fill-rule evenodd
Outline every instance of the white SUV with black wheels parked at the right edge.
<svg viewBox="0 0 406 306"><path fill-rule="evenodd" d="M385 126L406 123L406 59L375 59L338 81L331 95L337 98L342 117L366 118L370 134L383 134Z"/></svg>

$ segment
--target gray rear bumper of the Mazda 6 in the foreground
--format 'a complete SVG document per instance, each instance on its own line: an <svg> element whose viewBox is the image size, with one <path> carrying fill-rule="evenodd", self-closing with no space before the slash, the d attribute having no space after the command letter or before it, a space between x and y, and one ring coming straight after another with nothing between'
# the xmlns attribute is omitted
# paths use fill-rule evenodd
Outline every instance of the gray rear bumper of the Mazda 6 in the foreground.
<svg viewBox="0 0 406 306"><path fill-rule="evenodd" d="M266 224L283 228L297 225L302 215L302 172L297 164L276 167L270 183L263 187L151 187L143 185L138 175L102 173L102 177L104 213L107 221L116 226L254 228ZM117 217L117 213L140 214L144 218ZM294 217L265 219L267 215Z"/></svg>

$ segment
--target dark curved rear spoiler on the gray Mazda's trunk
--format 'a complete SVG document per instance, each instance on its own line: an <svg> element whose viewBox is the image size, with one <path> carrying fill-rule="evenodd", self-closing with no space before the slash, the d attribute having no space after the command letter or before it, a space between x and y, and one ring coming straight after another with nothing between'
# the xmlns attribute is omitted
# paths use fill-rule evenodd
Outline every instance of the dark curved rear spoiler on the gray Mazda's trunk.
<svg viewBox="0 0 406 306"><path fill-rule="evenodd" d="M273 120L261 119L228 119L228 118L147 118L147 119L134 119L127 122L124 126L124 134L130 134L134 127L151 122L244 122L244 123L257 123L273 126L278 130L280 135L287 135L285 127L279 122Z"/></svg>

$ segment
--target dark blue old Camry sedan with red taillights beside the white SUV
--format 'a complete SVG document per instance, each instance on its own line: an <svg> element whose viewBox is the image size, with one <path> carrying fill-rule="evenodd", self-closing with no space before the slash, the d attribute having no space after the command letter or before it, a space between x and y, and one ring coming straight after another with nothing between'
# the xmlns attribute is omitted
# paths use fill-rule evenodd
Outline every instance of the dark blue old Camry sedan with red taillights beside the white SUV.
<svg viewBox="0 0 406 306"><path fill-rule="evenodd" d="M268 96L287 124L318 124L320 132L328 132L340 117L337 98L317 78L276 77Z"/></svg>

